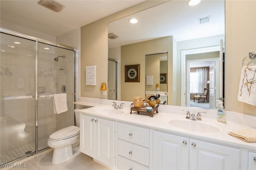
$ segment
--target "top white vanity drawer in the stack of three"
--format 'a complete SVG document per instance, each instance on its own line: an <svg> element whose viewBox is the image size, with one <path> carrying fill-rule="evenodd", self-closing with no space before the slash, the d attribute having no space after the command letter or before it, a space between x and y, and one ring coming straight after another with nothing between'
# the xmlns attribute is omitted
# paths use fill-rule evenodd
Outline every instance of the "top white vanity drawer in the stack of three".
<svg viewBox="0 0 256 170"><path fill-rule="evenodd" d="M118 138L149 147L149 129L126 125L123 123L117 124Z"/></svg>

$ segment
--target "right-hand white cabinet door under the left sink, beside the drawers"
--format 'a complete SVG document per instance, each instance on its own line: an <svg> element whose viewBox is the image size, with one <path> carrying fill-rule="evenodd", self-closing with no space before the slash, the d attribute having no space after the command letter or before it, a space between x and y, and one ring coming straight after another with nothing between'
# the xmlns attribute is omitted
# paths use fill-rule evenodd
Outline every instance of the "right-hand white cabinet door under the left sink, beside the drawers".
<svg viewBox="0 0 256 170"><path fill-rule="evenodd" d="M115 123L95 118L96 127L96 160L114 167Z"/></svg>

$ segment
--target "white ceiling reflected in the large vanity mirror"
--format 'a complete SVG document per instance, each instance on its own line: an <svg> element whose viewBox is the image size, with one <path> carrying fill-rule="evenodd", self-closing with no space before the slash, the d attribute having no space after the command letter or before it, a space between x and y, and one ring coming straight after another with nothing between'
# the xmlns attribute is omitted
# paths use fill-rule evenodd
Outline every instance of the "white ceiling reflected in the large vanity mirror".
<svg viewBox="0 0 256 170"><path fill-rule="evenodd" d="M108 24L108 32L119 36L108 39L109 47L174 36L177 42L225 34L224 0L202 0L188 6L187 0L172 0ZM211 16L198 24L198 18ZM129 19L138 19L130 24Z"/></svg>

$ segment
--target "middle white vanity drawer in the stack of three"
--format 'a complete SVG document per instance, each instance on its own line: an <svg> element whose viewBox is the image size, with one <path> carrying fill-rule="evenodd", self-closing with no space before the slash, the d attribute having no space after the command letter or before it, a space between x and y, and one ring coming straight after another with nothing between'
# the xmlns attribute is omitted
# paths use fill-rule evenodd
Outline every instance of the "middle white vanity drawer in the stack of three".
<svg viewBox="0 0 256 170"><path fill-rule="evenodd" d="M149 149L136 144L117 141L117 153L128 159L134 160L146 166L149 165Z"/></svg>

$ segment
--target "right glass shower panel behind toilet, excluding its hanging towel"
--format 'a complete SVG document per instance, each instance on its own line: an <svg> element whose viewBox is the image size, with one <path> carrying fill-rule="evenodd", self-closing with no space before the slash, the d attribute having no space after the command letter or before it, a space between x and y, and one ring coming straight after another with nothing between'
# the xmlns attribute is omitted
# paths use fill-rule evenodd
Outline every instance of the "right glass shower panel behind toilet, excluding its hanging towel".
<svg viewBox="0 0 256 170"><path fill-rule="evenodd" d="M74 125L75 51L38 42L38 151L47 148L49 136ZM53 94L66 93L68 111L54 113Z"/></svg>

